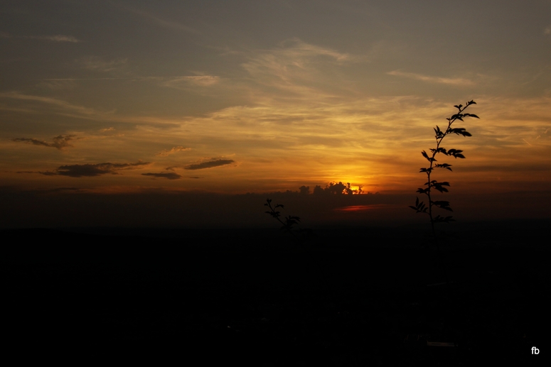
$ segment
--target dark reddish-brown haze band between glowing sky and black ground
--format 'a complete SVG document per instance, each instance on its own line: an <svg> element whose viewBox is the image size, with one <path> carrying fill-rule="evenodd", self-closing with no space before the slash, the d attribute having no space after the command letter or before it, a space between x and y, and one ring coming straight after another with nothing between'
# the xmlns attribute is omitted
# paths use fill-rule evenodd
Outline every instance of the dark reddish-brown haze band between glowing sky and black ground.
<svg viewBox="0 0 551 367"><path fill-rule="evenodd" d="M417 195L419 196L419 195ZM264 192L242 195L212 192L131 192L98 194L75 190L0 190L0 228L124 227L124 228L260 228L278 227L265 214L266 199L284 204L283 216L301 217L302 228L316 226L428 225L416 214L415 193L363 195L301 195ZM449 193L458 223L511 219L550 219L551 192L464 195ZM420 199L423 199L420 197ZM497 204L496 204L497 203ZM446 224L442 224L444 228ZM453 228L454 224L449 224ZM428 227L427 227L428 228Z"/></svg>

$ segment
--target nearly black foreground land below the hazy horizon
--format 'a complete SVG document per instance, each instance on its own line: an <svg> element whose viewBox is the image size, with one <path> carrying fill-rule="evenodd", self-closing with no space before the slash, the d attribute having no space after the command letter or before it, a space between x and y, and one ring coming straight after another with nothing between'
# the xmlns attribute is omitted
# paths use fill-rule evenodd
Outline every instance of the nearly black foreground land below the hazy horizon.
<svg viewBox="0 0 551 367"><path fill-rule="evenodd" d="M549 222L446 228L440 260L405 227L304 243L277 229L2 231L1 349L21 362L545 365Z"/></svg>

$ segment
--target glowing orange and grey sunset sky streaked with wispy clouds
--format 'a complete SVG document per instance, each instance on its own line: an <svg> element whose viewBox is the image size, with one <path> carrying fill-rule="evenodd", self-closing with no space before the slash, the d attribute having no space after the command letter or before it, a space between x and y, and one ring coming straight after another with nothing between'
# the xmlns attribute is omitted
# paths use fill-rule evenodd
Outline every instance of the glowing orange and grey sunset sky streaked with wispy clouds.
<svg viewBox="0 0 551 367"><path fill-rule="evenodd" d="M421 151L471 100L480 119L454 126L472 136L442 143L466 159L437 178L464 216L550 217L548 0L0 0L0 50L4 227L123 224L79 221L90 195L95 217L163 195L208 218L329 182L411 217Z"/></svg>

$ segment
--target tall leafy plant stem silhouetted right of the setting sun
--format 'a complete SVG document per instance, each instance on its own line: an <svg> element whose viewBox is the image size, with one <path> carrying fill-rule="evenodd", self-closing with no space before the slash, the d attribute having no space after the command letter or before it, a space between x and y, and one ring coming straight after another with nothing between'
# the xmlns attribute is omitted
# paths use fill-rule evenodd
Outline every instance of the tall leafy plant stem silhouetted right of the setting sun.
<svg viewBox="0 0 551 367"><path fill-rule="evenodd" d="M415 206L410 205L410 208L414 209L417 213L429 214L432 234L434 236L434 241L436 241L437 243L437 247L438 247L438 241L437 241L436 231L434 230L434 224L442 223L442 222L449 223L450 221L454 221L454 219L452 219L451 216L442 217L440 216L440 214L434 217L433 207L438 207L440 209L453 212L453 210L451 210L451 207L449 206L449 202L444 200L432 200L432 196L431 196L432 189L437 190L439 192L448 192L448 189L446 189L446 187L449 187L449 182L447 181L438 182L437 180L431 180L432 171L435 168L445 168L446 170L451 171L451 165L449 165L448 163L436 163L437 160L435 157L439 153L442 153L444 155L449 155L454 158L465 158L465 156L462 154L463 150L460 150L460 149L446 150L446 148L441 147L440 144L442 143L442 140L451 133L454 133L456 135L461 135L461 136L471 136L471 133L466 131L464 128L451 127L451 124L454 124L455 121L457 120L463 121L464 117L474 117L475 119L478 119L478 116L476 116L475 114L464 113L466 108L469 107L471 104L476 104L476 102L474 101L466 102L465 106L463 106L462 104L455 105L454 107L458 109L458 111L456 114L451 115L449 119L446 119L448 120L448 127L446 128L446 130L442 131L438 126L434 128L434 138L436 138L437 145L436 145L436 148L430 149L430 151L432 152L432 155L427 154L427 152L425 152L424 150L421 152L423 157L429 161L430 165L428 168L421 168L421 170L419 171L419 172L427 173L427 183L424 184L425 187L421 187L417 189L417 192L419 192L419 194L427 195L429 199L429 205L427 206L424 204L424 202L419 202L419 197L417 197L417 200L415 200Z"/></svg>

